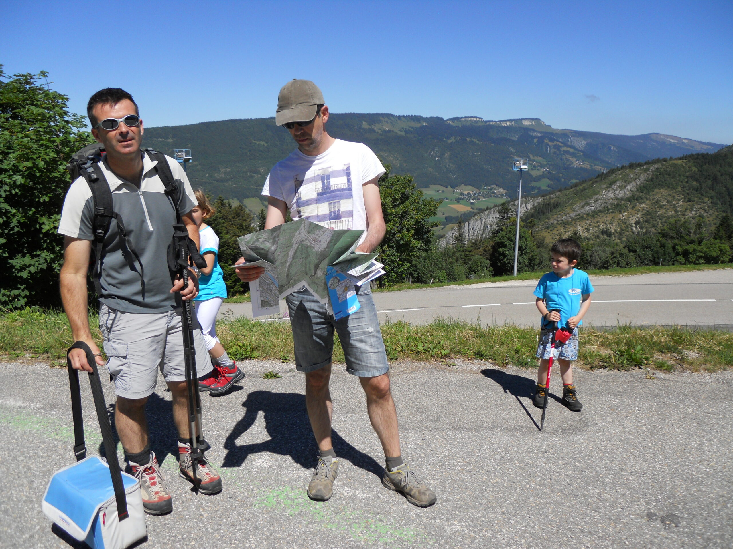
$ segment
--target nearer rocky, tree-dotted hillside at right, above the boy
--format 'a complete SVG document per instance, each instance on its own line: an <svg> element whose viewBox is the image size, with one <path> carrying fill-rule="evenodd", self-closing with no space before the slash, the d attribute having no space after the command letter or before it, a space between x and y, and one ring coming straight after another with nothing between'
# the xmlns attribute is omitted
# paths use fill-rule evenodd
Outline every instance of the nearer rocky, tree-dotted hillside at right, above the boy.
<svg viewBox="0 0 733 549"><path fill-rule="evenodd" d="M733 250L733 146L614 168L525 206L532 249L572 236L587 268L725 263ZM483 212L439 247L485 248L476 243L496 239L515 209L513 201Z"/></svg>

